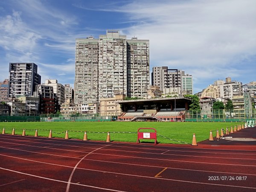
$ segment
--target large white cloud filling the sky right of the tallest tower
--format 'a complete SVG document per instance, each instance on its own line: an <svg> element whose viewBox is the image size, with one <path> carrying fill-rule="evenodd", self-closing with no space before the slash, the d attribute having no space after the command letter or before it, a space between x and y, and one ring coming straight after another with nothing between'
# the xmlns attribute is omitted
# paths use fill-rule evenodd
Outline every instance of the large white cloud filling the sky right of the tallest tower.
<svg viewBox="0 0 256 192"><path fill-rule="evenodd" d="M183 69L198 81L241 76L239 62L256 55L256 1L161 2L134 1L122 9L138 21L124 34L150 40L151 66Z"/></svg>

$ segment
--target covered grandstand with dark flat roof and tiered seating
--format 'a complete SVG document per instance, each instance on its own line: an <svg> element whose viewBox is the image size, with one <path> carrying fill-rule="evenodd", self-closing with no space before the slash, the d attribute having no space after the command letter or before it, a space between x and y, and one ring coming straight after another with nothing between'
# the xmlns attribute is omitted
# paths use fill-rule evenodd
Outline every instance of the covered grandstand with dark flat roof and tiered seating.
<svg viewBox="0 0 256 192"><path fill-rule="evenodd" d="M123 113L117 121L183 121L185 110L189 110L190 98L168 97L116 101Z"/></svg>

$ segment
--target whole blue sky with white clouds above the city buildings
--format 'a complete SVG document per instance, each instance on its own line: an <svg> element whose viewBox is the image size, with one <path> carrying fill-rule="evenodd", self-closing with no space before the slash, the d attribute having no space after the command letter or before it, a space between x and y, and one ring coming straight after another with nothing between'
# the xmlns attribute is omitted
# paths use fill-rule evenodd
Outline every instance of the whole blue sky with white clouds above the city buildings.
<svg viewBox="0 0 256 192"><path fill-rule="evenodd" d="M150 68L193 75L194 93L215 80L256 81L255 0L1 0L0 81L9 62L34 62L73 87L75 39L118 29L149 39Z"/></svg>

